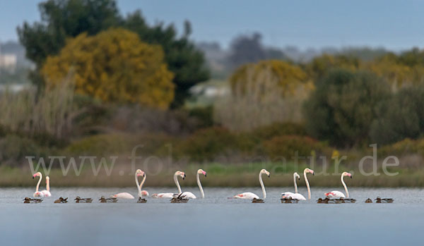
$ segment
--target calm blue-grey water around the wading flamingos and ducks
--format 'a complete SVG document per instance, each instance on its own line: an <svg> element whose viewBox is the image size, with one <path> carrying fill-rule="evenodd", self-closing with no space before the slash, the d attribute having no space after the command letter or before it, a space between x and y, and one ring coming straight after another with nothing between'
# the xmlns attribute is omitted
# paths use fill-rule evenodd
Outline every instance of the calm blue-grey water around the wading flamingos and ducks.
<svg viewBox="0 0 424 246"><path fill-rule="evenodd" d="M146 187L153 192L175 192ZM185 189L199 195L195 188ZM136 196L129 188L52 188L41 204L23 204L34 189L1 188L1 245L411 245L423 242L424 190L351 188L355 204L316 204L324 192L312 187L312 200L281 204L281 192L293 187L268 188L264 204L228 199L237 192L260 188L208 188L206 199L170 204L148 199L146 204L119 199L100 204L98 197L117 192ZM341 189L338 189L341 190ZM300 189L305 195L306 190ZM92 204L54 204L58 197L96 198ZM391 197L393 204L365 204L368 197Z"/></svg>

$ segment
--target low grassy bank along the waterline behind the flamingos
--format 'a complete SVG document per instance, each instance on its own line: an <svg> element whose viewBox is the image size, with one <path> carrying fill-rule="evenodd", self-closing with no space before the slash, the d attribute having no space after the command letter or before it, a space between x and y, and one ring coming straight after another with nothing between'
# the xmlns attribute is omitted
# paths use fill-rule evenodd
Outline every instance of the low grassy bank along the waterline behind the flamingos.
<svg viewBox="0 0 424 246"><path fill-rule="evenodd" d="M222 164L204 164L204 165L185 165L175 166L173 168L142 168L147 173L146 187L165 187L173 186L172 175L175 171L185 171L187 178L181 181L184 186L196 185L196 171L203 168L207 171L206 178L201 177L204 186L209 187L248 187L257 186L258 173L261 168L271 172L271 178L263 177L266 186L281 187L293 185L293 171L300 173L301 179L298 185L305 185L302 177L302 170L306 166L293 164L243 164L243 165L222 165ZM340 172L350 171L353 173L353 179L345 178L349 187L424 187L424 171L406 171L406 169L390 170L399 171L396 176L387 176L382 171L379 176L364 176L360 172L340 167L337 172L334 168L315 167L315 176L308 174L310 184L317 187L338 187L340 183ZM43 172L43 176L44 173ZM326 174L324 174L326 173ZM31 187L35 186L37 180L33 180L32 172L29 168L8 168L0 167L0 186L1 187ZM79 176L69 169L64 176L60 168L52 168L49 173L52 186L56 187L127 187L134 185L134 172L129 165L114 166L110 175L107 175L105 168L101 168L98 175L93 175L91 166L86 166L81 170ZM43 178L42 186L45 185Z"/></svg>

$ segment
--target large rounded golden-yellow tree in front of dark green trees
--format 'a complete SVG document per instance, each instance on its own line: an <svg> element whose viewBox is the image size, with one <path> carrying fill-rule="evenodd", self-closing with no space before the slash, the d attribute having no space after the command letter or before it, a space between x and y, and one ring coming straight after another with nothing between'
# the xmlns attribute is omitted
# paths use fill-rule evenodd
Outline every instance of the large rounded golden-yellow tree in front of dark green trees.
<svg viewBox="0 0 424 246"><path fill-rule="evenodd" d="M112 28L69 39L59 55L47 58L41 72L47 89L73 70L77 93L166 109L174 85L163 56L160 46L141 42L134 32Z"/></svg>

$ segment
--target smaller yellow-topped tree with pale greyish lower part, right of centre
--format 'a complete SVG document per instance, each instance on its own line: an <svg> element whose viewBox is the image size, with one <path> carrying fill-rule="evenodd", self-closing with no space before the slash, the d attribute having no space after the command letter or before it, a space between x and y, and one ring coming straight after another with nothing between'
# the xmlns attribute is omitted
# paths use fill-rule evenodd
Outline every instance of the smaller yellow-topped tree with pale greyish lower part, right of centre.
<svg viewBox="0 0 424 246"><path fill-rule="evenodd" d="M230 78L231 94L214 106L214 117L230 130L252 130L275 122L301 121L301 105L312 83L284 61L246 64Z"/></svg>

